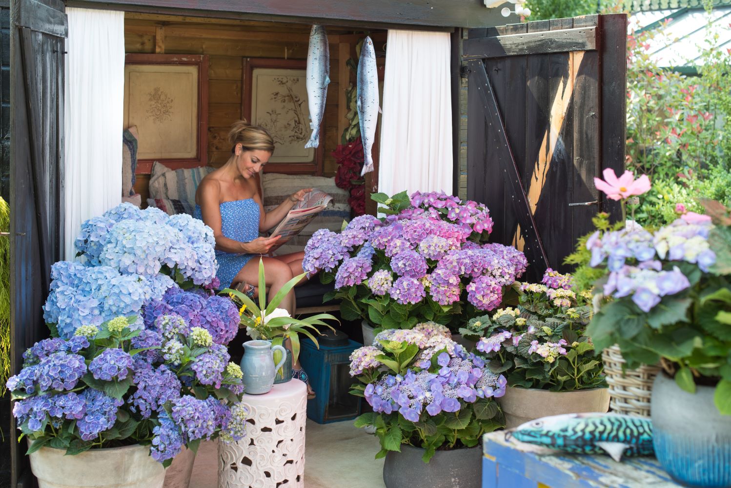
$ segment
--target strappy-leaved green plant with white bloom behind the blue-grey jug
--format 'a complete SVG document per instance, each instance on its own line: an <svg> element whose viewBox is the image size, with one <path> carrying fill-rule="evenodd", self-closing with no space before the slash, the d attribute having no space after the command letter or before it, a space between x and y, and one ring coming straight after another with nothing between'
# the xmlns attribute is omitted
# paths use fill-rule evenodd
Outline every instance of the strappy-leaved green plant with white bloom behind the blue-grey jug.
<svg viewBox="0 0 731 488"><path fill-rule="evenodd" d="M284 341L289 339L292 343L292 363L296 364L300 357L300 334L309 338L315 346L319 347L314 334L320 334L316 325L322 325L335 331L333 327L325 322L325 320L338 321L335 316L330 313L318 313L314 316L305 317L304 319L295 319L289 315L287 310L279 308L279 304L287 294L292 291L297 283L305 278L305 273L295 276L277 291L274 297L267 305L266 297L266 280L264 275L264 262L259 260L259 303L254 302L246 294L237 290L224 289L221 293L228 293L230 297L237 301L241 308L239 314L241 324L246 326L246 332L252 339L271 340L273 346L281 346ZM309 330L308 330L309 329ZM275 361L281 359L281 352L275 351Z"/></svg>

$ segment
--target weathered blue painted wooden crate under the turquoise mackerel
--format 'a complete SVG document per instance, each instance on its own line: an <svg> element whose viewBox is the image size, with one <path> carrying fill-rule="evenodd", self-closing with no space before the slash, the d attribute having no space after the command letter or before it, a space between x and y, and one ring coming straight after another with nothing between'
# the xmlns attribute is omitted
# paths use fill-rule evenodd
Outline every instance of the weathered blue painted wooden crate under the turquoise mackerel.
<svg viewBox="0 0 731 488"><path fill-rule="evenodd" d="M680 487L654 457L557 456L521 452L504 432L482 438L482 488L670 488Z"/></svg>

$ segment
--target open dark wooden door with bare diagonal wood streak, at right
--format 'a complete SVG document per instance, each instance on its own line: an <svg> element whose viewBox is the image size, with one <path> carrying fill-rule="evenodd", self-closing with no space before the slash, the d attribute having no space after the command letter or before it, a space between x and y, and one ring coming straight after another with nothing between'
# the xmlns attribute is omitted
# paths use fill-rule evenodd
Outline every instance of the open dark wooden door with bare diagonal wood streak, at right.
<svg viewBox="0 0 731 488"><path fill-rule="evenodd" d="M467 196L485 202L493 242L563 264L597 211L594 176L624 167L626 15L470 29Z"/></svg>

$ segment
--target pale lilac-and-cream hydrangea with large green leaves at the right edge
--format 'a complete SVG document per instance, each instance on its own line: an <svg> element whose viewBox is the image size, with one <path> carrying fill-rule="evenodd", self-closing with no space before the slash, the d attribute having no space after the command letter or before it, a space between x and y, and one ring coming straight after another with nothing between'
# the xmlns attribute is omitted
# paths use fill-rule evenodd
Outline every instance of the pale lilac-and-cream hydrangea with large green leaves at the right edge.
<svg viewBox="0 0 731 488"><path fill-rule="evenodd" d="M613 264L597 286L610 301L587 332L597 350L618 344L627 367L659 362L687 392L715 386L716 407L731 415L731 216L704 203L715 226L686 214L652 234L598 236L620 250L632 243L641 260L636 251L621 261L602 254L598 266Z"/></svg>

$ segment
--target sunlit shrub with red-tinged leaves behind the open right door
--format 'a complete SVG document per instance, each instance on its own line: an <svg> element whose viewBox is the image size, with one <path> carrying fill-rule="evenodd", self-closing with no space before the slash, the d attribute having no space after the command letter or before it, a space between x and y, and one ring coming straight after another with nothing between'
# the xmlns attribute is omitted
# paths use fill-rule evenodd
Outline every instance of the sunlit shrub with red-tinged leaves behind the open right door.
<svg viewBox="0 0 731 488"><path fill-rule="evenodd" d="M691 171L703 180L709 168L728 168L731 125L724 121L731 115L731 57L714 47L719 33L711 15L708 20L697 47L700 77L664 69L651 58L648 42L663 34L667 23L627 39L626 167L653 181L672 181L678 172Z"/></svg>

